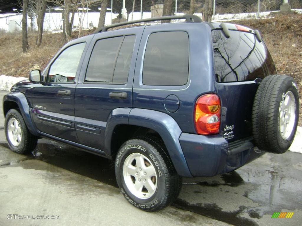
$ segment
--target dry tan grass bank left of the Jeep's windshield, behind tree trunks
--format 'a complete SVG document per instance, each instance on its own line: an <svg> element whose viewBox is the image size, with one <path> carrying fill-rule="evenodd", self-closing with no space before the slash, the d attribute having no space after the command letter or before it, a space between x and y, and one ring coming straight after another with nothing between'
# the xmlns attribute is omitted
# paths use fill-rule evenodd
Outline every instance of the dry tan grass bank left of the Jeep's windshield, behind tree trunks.
<svg viewBox="0 0 302 226"><path fill-rule="evenodd" d="M92 33L92 30L83 31L82 36ZM28 72L33 69L43 70L51 58L63 46L62 33L44 33L42 45L35 46L36 34L29 33L29 49L22 52L21 33L0 34L0 75L14 77L28 77ZM72 39L78 37L77 32L72 33Z"/></svg>

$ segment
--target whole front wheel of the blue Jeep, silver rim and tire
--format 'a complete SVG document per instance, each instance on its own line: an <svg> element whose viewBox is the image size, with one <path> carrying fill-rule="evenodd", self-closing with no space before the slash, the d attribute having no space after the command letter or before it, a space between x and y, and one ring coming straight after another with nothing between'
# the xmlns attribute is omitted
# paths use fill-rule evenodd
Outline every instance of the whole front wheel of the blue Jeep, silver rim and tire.
<svg viewBox="0 0 302 226"><path fill-rule="evenodd" d="M37 137L32 135L16 109L11 109L5 116L5 135L8 146L13 152L26 154L37 146Z"/></svg>

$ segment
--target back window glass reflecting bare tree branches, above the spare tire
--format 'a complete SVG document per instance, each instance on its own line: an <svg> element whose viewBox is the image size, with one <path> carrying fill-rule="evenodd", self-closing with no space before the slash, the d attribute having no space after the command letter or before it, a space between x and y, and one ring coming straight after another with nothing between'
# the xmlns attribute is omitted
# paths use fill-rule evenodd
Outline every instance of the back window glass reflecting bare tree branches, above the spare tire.
<svg viewBox="0 0 302 226"><path fill-rule="evenodd" d="M275 66L266 46L252 33L230 30L212 31L215 77L218 82L235 82L264 78Z"/></svg>

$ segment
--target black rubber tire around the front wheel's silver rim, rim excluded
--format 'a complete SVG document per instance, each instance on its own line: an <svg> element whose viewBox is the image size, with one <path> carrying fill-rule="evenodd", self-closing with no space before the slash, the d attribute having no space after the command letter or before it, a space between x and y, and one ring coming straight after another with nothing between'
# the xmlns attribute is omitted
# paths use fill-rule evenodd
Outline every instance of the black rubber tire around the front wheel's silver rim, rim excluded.
<svg viewBox="0 0 302 226"><path fill-rule="evenodd" d="M18 124L21 128L21 141L16 146L12 143L8 135L8 122L12 118L15 118L18 121ZM16 109L9 110L5 116L5 136L6 140L8 141L9 148L18 154L29 153L37 146L37 137L28 131L22 115Z"/></svg>

